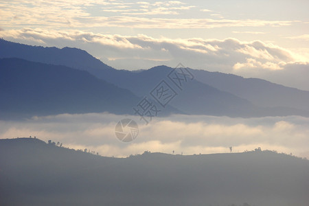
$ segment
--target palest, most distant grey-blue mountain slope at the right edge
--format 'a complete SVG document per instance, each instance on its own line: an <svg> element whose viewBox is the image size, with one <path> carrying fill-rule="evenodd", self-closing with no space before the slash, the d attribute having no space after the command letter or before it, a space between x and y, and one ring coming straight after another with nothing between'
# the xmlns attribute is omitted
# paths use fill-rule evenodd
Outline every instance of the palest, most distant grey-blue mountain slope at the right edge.
<svg viewBox="0 0 309 206"><path fill-rule="evenodd" d="M285 106L309 111L309 91L284 87L258 78L191 69L196 80L233 93L259 106ZM297 81L295 79L295 81Z"/></svg>

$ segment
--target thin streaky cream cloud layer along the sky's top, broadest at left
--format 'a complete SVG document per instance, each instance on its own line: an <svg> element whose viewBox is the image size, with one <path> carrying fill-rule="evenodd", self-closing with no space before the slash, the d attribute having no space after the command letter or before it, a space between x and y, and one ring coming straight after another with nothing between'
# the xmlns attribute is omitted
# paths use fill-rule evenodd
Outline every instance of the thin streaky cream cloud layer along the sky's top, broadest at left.
<svg viewBox="0 0 309 206"><path fill-rule="evenodd" d="M34 1L0 2L3 27L47 28L216 28L286 26L293 21L266 21L260 19L198 19L172 18L195 5L181 1L128 2L123 1ZM102 12L92 12L93 7ZM157 16L154 16L157 15ZM211 14L220 17L220 14ZM12 16L14 16L12 18ZM142 16L142 17L140 17Z"/></svg>

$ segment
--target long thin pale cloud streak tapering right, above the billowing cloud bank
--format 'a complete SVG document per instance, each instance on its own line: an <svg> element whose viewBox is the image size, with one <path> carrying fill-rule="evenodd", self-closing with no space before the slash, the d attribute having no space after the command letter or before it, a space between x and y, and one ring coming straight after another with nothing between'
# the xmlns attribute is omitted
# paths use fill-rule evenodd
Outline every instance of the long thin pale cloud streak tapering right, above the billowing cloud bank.
<svg viewBox="0 0 309 206"><path fill-rule="evenodd" d="M128 14L128 13L126 13ZM137 13L134 13L137 14ZM177 12L167 11L161 8L146 14L177 14ZM220 17L220 16L219 16ZM87 25L83 22L87 21ZM63 22L62 22L63 23ZM258 19L163 19L145 18L135 16L111 16L111 17L89 17L78 18L74 27L134 27L134 28L165 28L165 29L210 29L218 27L264 27L264 26L286 26L292 21L263 21Z"/></svg>

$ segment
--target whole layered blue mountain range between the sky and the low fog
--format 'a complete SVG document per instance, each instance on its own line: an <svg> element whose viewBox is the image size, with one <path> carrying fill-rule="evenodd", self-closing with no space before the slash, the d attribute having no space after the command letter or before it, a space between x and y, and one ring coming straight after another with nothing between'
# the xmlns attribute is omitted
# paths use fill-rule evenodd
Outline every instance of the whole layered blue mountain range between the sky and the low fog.
<svg viewBox="0 0 309 206"><path fill-rule="evenodd" d="M261 79L166 66L119 70L81 49L3 39L0 58L0 118L4 119L60 113L136 114L133 108L144 98L157 105L159 115L309 116L309 91ZM183 71L187 76L181 76ZM178 79L171 78L173 72ZM164 94L165 99L172 95L166 104L154 96L159 89L172 91Z"/></svg>

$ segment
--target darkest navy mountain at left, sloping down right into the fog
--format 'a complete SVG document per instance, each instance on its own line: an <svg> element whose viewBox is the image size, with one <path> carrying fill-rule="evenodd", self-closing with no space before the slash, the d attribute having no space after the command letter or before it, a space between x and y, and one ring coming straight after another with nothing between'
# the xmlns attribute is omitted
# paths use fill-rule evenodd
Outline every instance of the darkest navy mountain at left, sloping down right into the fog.
<svg viewBox="0 0 309 206"><path fill-rule="evenodd" d="M139 99L95 78L87 71L65 66L0 59L1 118L59 113L133 113Z"/></svg>

